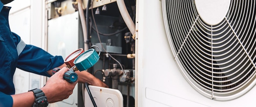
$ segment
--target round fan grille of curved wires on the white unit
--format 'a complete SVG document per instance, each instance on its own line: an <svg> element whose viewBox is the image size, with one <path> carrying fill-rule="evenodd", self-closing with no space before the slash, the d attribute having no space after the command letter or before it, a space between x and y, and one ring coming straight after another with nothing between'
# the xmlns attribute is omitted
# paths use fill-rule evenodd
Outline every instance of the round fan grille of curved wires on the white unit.
<svg viewBox="0 0 256 107"><path fill-rule="evenodd" d="M255 85L255 0L231 0L217 25L202 20L194 0L162 1L173 55L197 91L208 98L231 100Z"/></svg>

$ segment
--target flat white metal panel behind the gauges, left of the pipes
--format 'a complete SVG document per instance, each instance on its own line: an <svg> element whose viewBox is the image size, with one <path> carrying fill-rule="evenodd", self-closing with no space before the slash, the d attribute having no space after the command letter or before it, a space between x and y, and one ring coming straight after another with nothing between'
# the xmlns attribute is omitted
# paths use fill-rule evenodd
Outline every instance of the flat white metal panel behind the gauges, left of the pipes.
<svg viewBox="0 0 256 107"><path fill-rule="evenodd" d="M68 21L67 21L68 20ZM65 59L69 54L79 48L79 14L78 12L67 14L48 21L47 51ZM78 86L74 88L69 98L49 104L49 107L77 107Z"/></svg>

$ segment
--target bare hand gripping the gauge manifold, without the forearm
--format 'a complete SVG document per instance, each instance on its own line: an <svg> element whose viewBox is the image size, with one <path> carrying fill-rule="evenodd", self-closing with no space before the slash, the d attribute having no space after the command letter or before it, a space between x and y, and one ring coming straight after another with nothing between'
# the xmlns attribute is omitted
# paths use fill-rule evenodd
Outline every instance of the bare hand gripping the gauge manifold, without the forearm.
<svg viewBox="0 0 256 107"><path fill-rule="evenodd" d="M73 89L78 80L74 83L64 80L63 76L68 70L67 67L63 67L60 71L51 76L45 86L41 88L49 103L67 99L73 93Z"/></svg>

